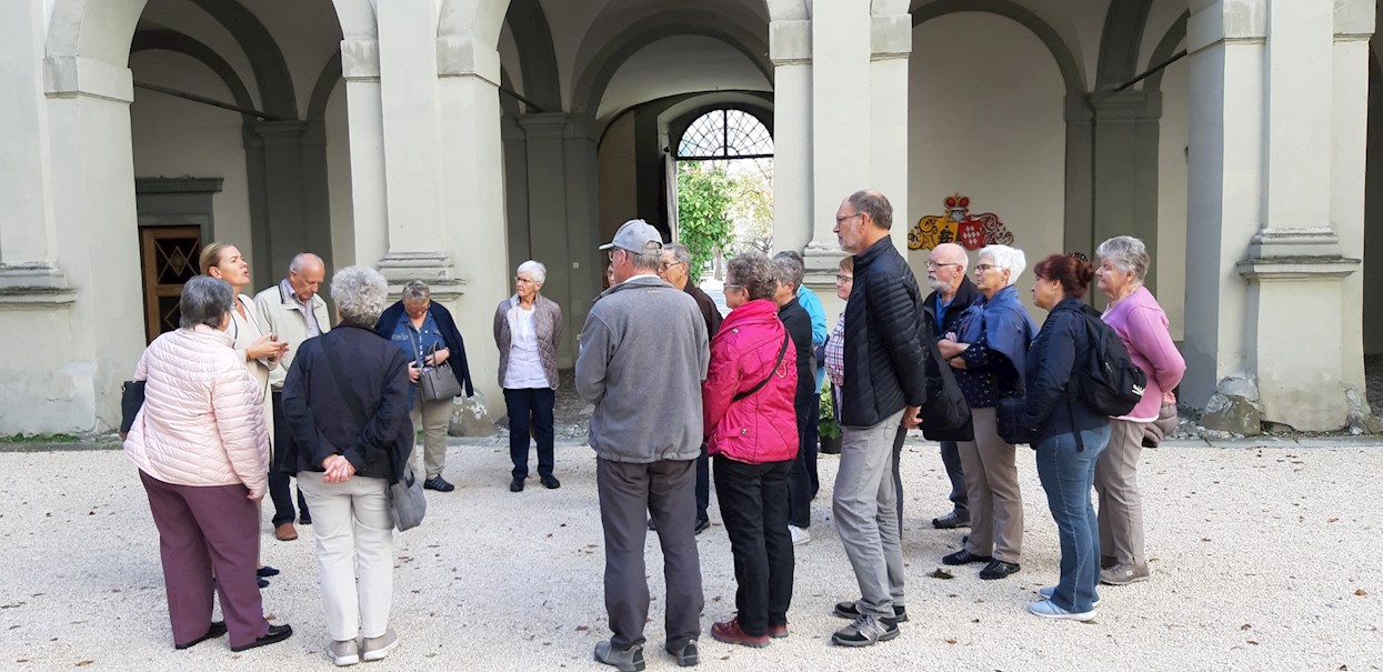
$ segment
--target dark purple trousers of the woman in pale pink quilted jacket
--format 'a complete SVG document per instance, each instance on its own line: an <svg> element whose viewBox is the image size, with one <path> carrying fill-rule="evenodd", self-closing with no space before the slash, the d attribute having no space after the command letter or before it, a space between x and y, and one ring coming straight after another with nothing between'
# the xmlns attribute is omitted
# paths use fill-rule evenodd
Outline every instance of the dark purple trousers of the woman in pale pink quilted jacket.
<svg viewBox="0 0 1383 672"><path fill-rule="evenodd" d="M212 626L212 593L231 646L268 632L254 566L259 561L259 506L249 488L173 485L140 472L149 512L159 528L163 584L169 593L173 643L192 642Z"/></svg>

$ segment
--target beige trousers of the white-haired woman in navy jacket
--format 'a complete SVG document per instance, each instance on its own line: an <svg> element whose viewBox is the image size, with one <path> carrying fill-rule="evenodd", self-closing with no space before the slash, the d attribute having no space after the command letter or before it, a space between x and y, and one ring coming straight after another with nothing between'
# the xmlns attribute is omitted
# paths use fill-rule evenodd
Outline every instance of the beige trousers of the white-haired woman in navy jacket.
<svg viewBox="0 0 1383 672"><path fill-rule="evenodd" d="M993 408L972 408L969 415L975 440L956 442L969 502L965 549L1018 564L1023 554L1023 496L1018 491L1014 444L999 438Z"/></svg>

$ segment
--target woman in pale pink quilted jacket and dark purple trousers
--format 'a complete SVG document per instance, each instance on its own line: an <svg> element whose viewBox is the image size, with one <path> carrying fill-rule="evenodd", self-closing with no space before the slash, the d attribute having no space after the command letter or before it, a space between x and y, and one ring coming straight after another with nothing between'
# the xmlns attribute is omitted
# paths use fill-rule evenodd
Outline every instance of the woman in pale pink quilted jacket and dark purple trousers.
<svg viewBox="0 0 1383 672"><path fill-rule="evenodd" d="M178 300L180 328L155 339L134 369L145 398L124 454L140 467L159 528L177 648L227 632L234 651L293 635L264 619L254 584L268 430L260 387L225 333L234 306L230 285L192 278ZM224 622L212 621L217 592Z"/></svg>

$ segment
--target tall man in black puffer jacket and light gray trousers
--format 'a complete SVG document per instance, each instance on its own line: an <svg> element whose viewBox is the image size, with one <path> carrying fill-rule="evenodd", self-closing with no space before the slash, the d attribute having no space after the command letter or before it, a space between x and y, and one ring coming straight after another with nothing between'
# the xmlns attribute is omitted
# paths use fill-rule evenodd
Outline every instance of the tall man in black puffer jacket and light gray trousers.
<svg viewBox="0 0 1383 672"><path fill-rule="evenodd" d="M927 400L922 295L888 230L893 206L859 191L835 210L841 249L855 254L855 288L845 304L845 384L841 466L833 510L860 599L835 606L851 625L831 642L870 646L898 636L903 606L903 549L892 462L903 427L918 424ZM900 427L902 426L902 427Z"/></svg>

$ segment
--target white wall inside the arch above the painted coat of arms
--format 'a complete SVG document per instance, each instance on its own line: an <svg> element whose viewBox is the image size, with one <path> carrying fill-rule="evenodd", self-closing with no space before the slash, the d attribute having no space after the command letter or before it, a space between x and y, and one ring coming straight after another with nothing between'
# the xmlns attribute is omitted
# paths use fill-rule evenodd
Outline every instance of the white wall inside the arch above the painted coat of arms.
<svg viewBox="0 0 1383 672"><path fill-rule="evenodd" d="M1007 18L952 14L913 29L909 68L910 212L893 225L969 196L971 213L997 214L1028 254L1019 295L1030 304L1032 264L1062 252L1065 87L1051 53ZM925 261L927 250L910 252L920 282Z"/></svg>

